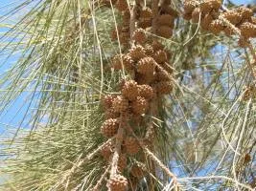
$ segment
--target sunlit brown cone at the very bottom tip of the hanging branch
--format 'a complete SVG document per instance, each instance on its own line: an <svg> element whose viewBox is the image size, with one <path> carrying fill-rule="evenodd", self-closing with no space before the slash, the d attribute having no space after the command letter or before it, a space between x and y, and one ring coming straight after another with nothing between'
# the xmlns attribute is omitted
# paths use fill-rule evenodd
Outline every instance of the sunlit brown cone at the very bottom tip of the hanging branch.
<svg viewBox="0 0 256 191"><path fill-rule="evenodd" d="M128 180L122 175L114 175L107 181L107 187L111 191L126 191L128 189Z"/></svg>

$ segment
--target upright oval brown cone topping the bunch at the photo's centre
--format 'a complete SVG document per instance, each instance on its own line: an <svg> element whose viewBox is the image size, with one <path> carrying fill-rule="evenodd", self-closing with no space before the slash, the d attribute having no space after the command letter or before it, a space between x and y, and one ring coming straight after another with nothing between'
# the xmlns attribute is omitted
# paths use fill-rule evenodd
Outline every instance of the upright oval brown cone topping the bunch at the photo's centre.
<svg viewBox="0 0 256 191"><path fill-rule="evenodd" d="M134 80L127 81L122 89L123 96L127 97L128 100L135 100L138 96L138 85Z"/></svg>

